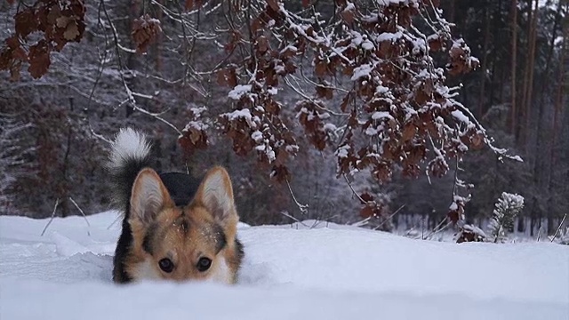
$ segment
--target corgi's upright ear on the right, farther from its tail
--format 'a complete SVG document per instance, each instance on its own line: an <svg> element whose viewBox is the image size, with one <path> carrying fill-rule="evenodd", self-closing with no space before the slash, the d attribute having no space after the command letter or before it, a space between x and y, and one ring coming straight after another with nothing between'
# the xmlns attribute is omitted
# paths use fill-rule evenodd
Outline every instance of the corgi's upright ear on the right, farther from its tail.
<svg viewBox="0 0 569 320"><path fill-rule="evenodd" d="M205 174L204 180L197 188L195 201L203 205L217 220L221 227L230 228L239 219L237 216L233 188L228 172L216 166Z"/></svg>

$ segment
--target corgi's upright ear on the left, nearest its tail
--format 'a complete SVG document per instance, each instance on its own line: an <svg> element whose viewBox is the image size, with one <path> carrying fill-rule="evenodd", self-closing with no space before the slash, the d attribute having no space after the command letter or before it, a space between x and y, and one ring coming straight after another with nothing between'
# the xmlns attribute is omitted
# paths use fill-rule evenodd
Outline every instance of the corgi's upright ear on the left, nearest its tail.
<svg viewBox="0 0 569 320"><path fill-rule="evenodd" d="M173 206L168 190L154 170L142 169L132 186L131 219L152 222L164 207Z"/></svg>

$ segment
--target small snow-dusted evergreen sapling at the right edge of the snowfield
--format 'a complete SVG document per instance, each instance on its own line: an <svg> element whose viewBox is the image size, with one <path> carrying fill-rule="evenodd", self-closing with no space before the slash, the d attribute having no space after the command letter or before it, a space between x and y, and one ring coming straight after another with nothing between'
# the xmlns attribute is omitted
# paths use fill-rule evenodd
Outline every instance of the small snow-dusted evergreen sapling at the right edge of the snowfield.
<svg viewBox="0 0 569 320"><path fill-rule="evenodd" d="M517 194L502 192L495 204L493 217L488 228L494 243L503 243L506 239L506 230L514 228L514 219L524 208L524 197Z"/></svg>

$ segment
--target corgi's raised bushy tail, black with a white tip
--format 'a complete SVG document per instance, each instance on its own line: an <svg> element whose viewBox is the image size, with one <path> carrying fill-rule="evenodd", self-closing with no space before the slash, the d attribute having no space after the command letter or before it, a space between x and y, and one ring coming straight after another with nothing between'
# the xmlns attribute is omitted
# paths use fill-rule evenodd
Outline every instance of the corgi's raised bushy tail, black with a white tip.
<svg viewBox="0 0 569 320"><path fill-rule="evenodd" d="M140 170L150 165L150 144L146 135L123 128L116 135L108 156L108 171L112 183L113 203L128 216L132 184Z"/></svg>

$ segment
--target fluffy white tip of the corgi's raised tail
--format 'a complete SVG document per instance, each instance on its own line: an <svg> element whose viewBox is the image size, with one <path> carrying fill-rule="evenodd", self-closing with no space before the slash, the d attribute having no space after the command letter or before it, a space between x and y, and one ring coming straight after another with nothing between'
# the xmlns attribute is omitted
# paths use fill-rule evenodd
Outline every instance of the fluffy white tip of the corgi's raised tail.
<svg viewBox="0 0 569 320"><path fill-rule="evenodd" d="M132 128L123 128L111 146L110 168L120 168L129 158L142 159L150 153L146 135Z"/></svg>

